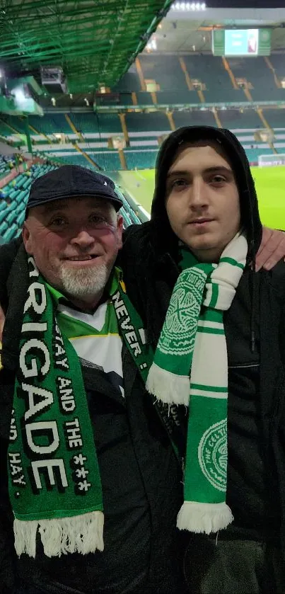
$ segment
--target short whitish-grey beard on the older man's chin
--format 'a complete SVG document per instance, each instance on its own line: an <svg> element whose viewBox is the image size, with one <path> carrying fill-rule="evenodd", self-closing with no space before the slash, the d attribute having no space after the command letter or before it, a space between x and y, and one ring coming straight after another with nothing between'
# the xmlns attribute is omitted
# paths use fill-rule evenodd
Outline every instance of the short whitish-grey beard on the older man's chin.
<svg viewBox="0 0 285 594"><path fill-rule="evenodd" d="M89 267L72 270L68 265L62 265L60 270L62 287L70 297L82 299L84 297L96 297L105 288L110 276L110 269L105 264L96 268Z"/></svg>

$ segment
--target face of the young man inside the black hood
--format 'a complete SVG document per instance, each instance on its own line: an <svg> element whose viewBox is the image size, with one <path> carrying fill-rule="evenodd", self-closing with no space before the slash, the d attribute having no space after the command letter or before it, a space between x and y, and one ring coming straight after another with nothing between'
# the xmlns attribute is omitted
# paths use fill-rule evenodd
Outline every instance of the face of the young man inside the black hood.
<svg viewBox="0 0 285 594"><path fill-rule="evenodd" d="M219 144L187 144L170 166L166 211L173 232L200 262L219 260L240 229L240 200Z"/></svg>

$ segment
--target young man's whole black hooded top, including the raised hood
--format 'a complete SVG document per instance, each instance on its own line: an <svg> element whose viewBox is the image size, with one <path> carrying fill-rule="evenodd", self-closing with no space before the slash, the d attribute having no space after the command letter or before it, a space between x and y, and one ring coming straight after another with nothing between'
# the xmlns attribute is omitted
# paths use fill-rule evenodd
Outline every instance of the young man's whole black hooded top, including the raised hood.
<svg viewBox="0 0 285 594"><path fill-rule="evenodd" d="M163 142L156 164L151 221L127 229L122 250L125 280L129 297L144 318L149 341L156 346L179 274L178 237L165 209L166 174L182 142L199 139L220 142L228 155L249 244L248 265L233 304L224 315L229 387L227 501L235 516L234 527L227 533L274 539L278 544L280 518L285 516L285 456L278 440L272 444L272 435L279 423L285 423L285 410L280 404L285 388L278 392L279 382L284 382L284 345L280 346L279 336L283 327L285 267L281 262L270 273L255 273L250 268L260 246L262 224L248 159L231 132L207 126L184 127ZM282 503L278 490L282 491Z"/></svg>

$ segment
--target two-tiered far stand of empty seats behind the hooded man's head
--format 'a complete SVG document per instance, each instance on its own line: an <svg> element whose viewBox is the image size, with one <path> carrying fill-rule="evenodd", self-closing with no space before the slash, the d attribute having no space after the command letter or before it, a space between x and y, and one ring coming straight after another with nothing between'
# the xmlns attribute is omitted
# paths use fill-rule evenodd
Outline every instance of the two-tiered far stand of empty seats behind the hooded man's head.
<svg viewBox="0 0 285 594"><path fill-rule="evenodd" d="M256 163L260 154L285 152L283 109L262 106L261 112L258 104L250 105L250 101L267 99L285 101L285 89L281 88L285 79L282 55L224 59L207 53L183 56L144 53L139 56L139 63L143 78L132 64L112 88L110 97L100 94L98 105L137 103L152 105L153 111L140 113L138 108L120 115L94 111L92 107L74 107L66 112L64 108L50 107L44 117L28 118L34 149L51 159L91 168L98 166L104 171L145 169L153 167L159 144L171 130L183 125L217 125L228 127L238 135L251 163ZM237 86L242 83L245 89ZM163 108L155 111L154 103ZM215 107L203 107L203 103L213 103ZM238 103L248 103L248 107L238 108ZM191 107L193 104L195 108ZM168 105L183 105L183 108L167 108ZM264 129L271 133L273 130L274 144L257 138L257 133ZM2 114L0 135L9 141L17 138L24 142L24 119ZM111 137L124 140L126 147L122 152L110 148ZM0 177L5 168L4 161L0 161Z"/></svg>

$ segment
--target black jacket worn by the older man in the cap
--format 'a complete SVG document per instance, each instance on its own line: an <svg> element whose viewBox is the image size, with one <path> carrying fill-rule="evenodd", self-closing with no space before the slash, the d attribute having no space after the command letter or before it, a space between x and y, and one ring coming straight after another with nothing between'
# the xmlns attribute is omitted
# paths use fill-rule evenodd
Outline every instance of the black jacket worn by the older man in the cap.
<svg viewBox="0 0 285 594"><path fill-rule="evenodd" d="M82 367L103 485L104 552L48 559L39 542L35 560L26 555L16 558L6 459L27 288L21 251L8 279L0 373L1 594L18 592L17 586L25 584L36 594L180 594L184 586L175 523L182 501L182 472L126 348L124 399L100 370Z"/></svg>

